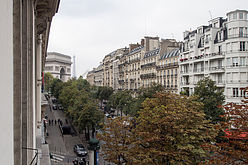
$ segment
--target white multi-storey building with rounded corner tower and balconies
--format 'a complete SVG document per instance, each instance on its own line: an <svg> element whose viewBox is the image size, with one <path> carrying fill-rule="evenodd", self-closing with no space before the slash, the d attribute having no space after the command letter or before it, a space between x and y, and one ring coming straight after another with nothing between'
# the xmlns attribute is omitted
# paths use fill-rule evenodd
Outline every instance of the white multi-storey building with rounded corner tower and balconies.
<svg viewBox="0 0 248 165"><path fill-rule="evenodd" d="M224 89L226 102L240 102L248 86L248 11L235 10L215 18L208 26L184 32L181 49L180 90L194 92L209 76Z"/></svg>

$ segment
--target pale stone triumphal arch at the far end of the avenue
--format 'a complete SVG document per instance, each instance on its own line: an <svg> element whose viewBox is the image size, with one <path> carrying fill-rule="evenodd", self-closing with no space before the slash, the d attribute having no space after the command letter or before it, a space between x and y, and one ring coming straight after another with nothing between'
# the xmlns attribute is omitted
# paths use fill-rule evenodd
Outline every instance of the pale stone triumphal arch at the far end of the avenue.
<svg viewBox="0 0 248 165"><path fill-rule="evenodd" d="M44 72L50 72L54 78L63 82L71 78L71 56L49 52L47 53Z"/></svg>

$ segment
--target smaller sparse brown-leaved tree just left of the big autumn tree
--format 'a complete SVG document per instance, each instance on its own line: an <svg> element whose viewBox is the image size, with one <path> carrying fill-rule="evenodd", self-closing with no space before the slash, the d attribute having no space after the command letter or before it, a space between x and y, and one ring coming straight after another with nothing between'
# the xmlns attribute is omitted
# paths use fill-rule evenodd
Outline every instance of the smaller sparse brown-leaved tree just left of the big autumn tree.
<svg viewBox="0 0 248 165"><path fill-rule="evenodd" d="M129 117L108 119L104 124L103 132L97 134L97 138L102 141L102 156L106 161L117 165L132 164L129 159L132 142L130 123Z"/></svg>

